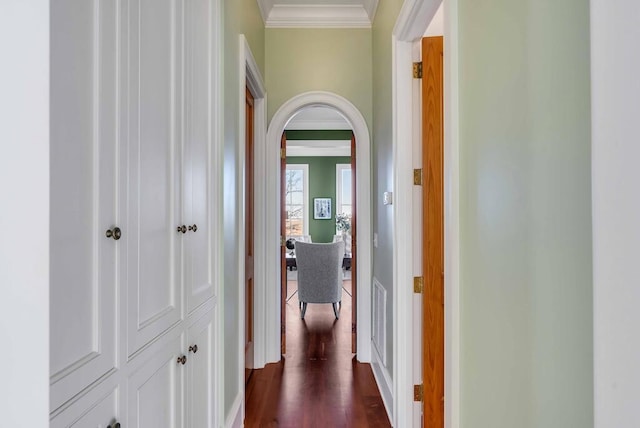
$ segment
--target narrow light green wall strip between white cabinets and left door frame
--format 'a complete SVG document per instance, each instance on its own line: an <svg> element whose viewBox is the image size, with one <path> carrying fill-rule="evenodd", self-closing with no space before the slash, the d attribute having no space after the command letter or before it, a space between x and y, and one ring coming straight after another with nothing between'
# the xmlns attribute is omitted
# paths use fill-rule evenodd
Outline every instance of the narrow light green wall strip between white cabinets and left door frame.
<svg viewBox="0 0 640 428"><path fill-rule="evenodd" d="M264 27L255 0L225 0L224 8L224 171L223 209L224 222L224 290L220 310L224 311L224 418L238 394L242 392L236 375L242 369L238 365L239 340L243 336L239 330L238 317L243 308L238 307L238 240L236 232L242 227L242 215L238 195L242 195L239 179L239 97L240 81L239 36L244 34L251 52L264 73Z"/></svg>

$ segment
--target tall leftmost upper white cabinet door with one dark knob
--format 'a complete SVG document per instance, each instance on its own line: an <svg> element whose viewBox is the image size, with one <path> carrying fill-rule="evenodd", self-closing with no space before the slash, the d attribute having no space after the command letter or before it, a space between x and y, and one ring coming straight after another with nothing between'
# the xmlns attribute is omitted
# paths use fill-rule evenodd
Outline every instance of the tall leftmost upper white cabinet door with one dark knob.
<svg viewBox="0 0 640 428"><path fill-rule="evenodd" d="M51 410L115 366L117 20L51 4Z"/></svg>

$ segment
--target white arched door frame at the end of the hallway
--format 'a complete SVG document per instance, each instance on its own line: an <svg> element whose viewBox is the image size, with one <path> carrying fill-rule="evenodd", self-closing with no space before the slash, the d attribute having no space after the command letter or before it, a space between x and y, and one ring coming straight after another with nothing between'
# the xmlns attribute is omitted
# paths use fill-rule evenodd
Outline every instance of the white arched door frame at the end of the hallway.
<svg viewBox="0 0 640 428"><path fill-rule="evenodd" d="M265 293L256 304L260 306L260 314L256 312L256 326L261 325L266 343L264 363L280 361L280 139L285 126L298 111L311 107L324 106L334 108L351 125L356 138L356 206L358 209L358 263L357 269L357 359L361 362L371 361L371 159L369 128L360 111L346 98L331 92L306 92L285 102L273 116L267 132L266 151L256 152L256 164L265 167L265 179L256 183L256 194L262 194L256 207L261 207L261 222L256 224L256 236L265 241L261 247L263 263L260 264L260 275L267 279ZM256 145L257 147L258 145ZM259 177L258 171L256 176ZM261 227L258 230L257 227ZM256 255L257 257L257 255ZM258 265L256 265L256 272ZM257 273L256 273L257 275ZM260 318L258 318L260 316ZM259 334L256 331L256 337ZM256 352L258 342L256 341ZM256 367L260 361L256 359Z"/></svg>

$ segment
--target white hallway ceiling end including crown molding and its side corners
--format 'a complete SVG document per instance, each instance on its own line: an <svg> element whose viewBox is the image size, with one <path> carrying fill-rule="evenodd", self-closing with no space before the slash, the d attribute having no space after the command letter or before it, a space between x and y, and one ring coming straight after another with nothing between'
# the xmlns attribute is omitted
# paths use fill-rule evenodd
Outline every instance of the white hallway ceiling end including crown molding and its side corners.
<svg viewBox="0 0 640 428"><path fill-rule="evenodd" d="M371 28L378 0L256 0L266 28Z"/></svg>

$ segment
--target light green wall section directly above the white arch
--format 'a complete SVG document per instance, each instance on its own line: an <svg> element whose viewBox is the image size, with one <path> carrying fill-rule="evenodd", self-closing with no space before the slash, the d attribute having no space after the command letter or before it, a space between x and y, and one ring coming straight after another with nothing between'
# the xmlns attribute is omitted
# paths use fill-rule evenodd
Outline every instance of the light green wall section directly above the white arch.
<svg viewBox="0 0 640 428"><path fill-rule="evenodd" d="M348 99L371 129L371 30L266 30L268 120L283 103L308 91Z"/></svg>

